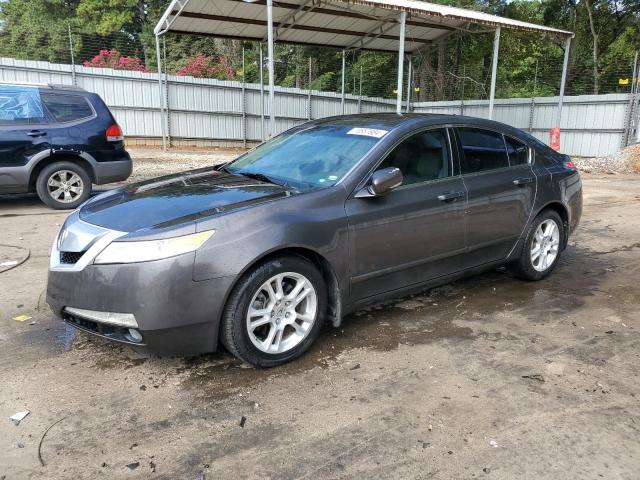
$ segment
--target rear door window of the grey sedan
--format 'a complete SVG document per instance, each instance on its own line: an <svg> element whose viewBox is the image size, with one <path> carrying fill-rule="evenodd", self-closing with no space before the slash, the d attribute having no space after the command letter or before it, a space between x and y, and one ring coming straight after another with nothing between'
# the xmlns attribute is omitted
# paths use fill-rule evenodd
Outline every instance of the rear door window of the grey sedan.
<svg viewBox="0 0 640 480"><path fill-rule="evenodd" d="M463 157L462 173L484 172L509 166L501 133L480 128L458 128Z"/></svg>

